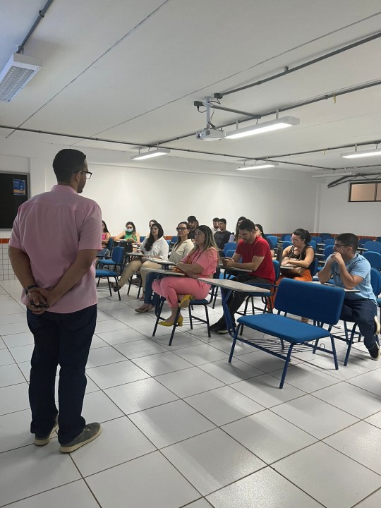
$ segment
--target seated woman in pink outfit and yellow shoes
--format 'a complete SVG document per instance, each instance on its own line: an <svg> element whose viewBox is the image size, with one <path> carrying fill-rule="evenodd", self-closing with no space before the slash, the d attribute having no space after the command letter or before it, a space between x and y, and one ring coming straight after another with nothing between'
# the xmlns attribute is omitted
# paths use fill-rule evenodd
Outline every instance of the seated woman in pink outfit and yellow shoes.
<svg viewBox="0 0 381 508"><path fill-rule="evenodd" d="M164 296L171 308L171 315L167 320L159 322L159 325L172 326L179 307L188 306L191 298L202 300L207 296L210 284L200 282L198 277L212 279L217 264L218 248L212 230L208 226L198 226L195 230L195 247L176 265L177 270L186 274L185 277L164 277L152 284L155 293ZM183 325L181 314L177 324Z"/></svg>

